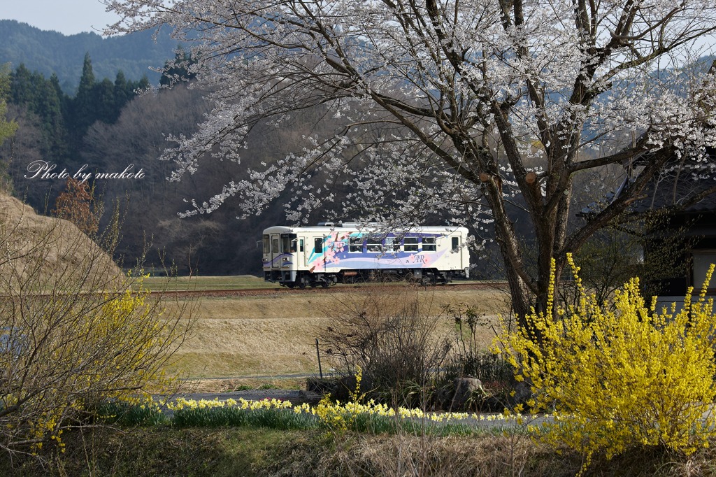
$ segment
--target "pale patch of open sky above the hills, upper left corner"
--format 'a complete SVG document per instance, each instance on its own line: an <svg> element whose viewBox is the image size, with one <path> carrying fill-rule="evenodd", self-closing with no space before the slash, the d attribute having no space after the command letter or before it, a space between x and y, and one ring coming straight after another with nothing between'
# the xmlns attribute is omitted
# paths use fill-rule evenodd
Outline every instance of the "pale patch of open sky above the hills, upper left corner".
<svg viewBox="0 0 716 477"><path fill-rule="evenodd" d="M6 0L0 9L0 19L22 21L42 30L71 35L102 34L102 29L119 17L107 13L100 0Z"/></svg>

